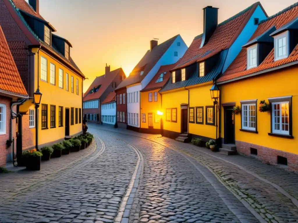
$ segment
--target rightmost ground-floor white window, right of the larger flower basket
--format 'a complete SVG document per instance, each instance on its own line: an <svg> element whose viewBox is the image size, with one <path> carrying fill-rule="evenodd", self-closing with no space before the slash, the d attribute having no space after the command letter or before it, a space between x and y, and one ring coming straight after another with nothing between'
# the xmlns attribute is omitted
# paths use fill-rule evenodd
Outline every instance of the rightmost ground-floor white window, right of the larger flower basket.
<svg viewBox="0 0 298 223"><path fill-rule="evenodd" d="M271 133L292 137L291 96L268 98L271 103ZM270 135L270 134L269 134ZM271 134L272 135L272 134Z"/></svg>

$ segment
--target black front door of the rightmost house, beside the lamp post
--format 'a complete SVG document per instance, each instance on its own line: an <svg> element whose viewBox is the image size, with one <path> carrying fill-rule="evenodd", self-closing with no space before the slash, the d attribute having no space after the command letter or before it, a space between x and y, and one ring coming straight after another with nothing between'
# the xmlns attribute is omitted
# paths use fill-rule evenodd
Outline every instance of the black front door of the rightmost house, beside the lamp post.
<svg viewBox="0 0 298 223"><path fill-rule="evenodd" d="M225 144L235 144L235 132L234 132L234 112L233 109L225 109L225 122L224 122L224 141Z"/></svg>

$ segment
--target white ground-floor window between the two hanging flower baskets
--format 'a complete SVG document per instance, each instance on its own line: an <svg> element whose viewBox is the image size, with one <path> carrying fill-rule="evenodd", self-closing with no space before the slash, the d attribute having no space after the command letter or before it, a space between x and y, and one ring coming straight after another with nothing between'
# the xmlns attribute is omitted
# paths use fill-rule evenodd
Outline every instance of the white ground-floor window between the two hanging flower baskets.
<svg viewBox="0 0 298 223"><path fill-rule="evenodd" d="M254 100L253 103L243 103L241 102L241 119L242 119L242 126L241 129L256 131L257 129L257 114L256 114L256 101Z"/></svg>

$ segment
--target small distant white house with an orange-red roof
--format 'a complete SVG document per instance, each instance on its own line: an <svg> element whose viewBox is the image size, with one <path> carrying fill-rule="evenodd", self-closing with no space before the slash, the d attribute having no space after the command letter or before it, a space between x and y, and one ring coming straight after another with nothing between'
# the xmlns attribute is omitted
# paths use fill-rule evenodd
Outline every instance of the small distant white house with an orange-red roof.
<svg viewBox="0 0 298 223"><path fill-rule="evenodd" d="M105 124L115 125L116 123L116 93L111 92L100 105L101 120Z"/></svg>

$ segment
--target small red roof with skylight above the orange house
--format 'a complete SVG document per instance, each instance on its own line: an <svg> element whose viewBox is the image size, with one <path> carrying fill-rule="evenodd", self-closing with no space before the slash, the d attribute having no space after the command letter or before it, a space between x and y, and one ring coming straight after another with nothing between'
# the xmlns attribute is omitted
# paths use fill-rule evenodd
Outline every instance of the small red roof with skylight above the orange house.
<svg viewBox="0 0 298 223"><path fill-rule="evenodd" d="M169 80L169 78L171 77L171 72L170 70L175 67L177 65L177 63L175 64L170 64L170 65L164 65L164 66L160 66L159 70L157 71L156 75L152 78L152 80L149 82L149 84L147 84L147 86L143 89L145 90L149 90L149 89L156 89L156 88L161 88L162 86L164 86L164 84ZM161 74L164 74L163 76L163 80L161 82L156 83L156 80L159 78L159 76Z"/></svg>

